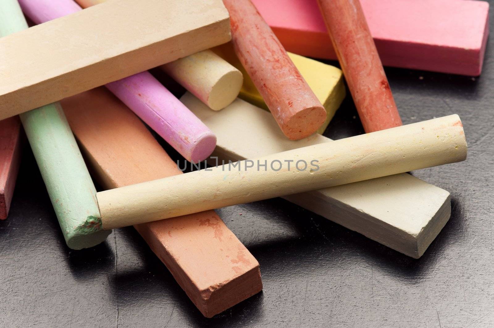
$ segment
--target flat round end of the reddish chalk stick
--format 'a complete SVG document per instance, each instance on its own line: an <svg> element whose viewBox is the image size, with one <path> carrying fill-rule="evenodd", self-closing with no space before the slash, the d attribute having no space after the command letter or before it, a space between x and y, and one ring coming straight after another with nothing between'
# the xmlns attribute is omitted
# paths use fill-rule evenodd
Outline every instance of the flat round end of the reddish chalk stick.
<svg viewBox="0 0 494 328"><path fill-rule="evenodd" d="M326 116L323 106L307 107L293 115L281 128L288 139L303 139L315 133L326 121Z"/></svg>

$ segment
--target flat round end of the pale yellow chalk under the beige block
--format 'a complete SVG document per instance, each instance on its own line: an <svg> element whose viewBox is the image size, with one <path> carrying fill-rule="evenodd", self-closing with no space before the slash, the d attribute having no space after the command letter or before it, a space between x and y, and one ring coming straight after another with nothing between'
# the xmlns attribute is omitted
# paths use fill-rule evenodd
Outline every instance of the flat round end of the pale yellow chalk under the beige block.
<svg viewBox="0 0 494 328"><path fill-rule="evenodd" d="M219 111L230 105L239 95L244 76L233 68L224 74L211 88L207 98L207 106L214 111Z"/></svg>

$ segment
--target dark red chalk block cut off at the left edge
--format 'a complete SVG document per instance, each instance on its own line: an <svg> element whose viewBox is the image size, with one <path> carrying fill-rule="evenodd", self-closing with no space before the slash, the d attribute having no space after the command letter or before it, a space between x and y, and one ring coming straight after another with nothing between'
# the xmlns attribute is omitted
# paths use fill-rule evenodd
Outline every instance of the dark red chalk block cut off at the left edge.
<svg viewBox="0 0 494 328"><path fill-rule="evenodd" d="M19 117L0 121L0 220L7 218L20 160Z"/></svg>

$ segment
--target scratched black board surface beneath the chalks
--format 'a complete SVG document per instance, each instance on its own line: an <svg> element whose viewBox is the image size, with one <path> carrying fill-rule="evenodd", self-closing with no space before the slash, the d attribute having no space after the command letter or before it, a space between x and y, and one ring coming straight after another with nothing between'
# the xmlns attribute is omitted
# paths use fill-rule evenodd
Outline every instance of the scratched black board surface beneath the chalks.
<svg viewBox="0 0 494 328"><path fill-rule="evenodd" d="M466 162L413 172L452 195L422 258L282 199L222 208L264 290L206 319L133 228L68 249L26 146L0 222L0 327L494 327L494 47L480 78L386 73L404 123L457 113L469 145ZM363 133L356 115L347 97L325 135Z"/></svg>

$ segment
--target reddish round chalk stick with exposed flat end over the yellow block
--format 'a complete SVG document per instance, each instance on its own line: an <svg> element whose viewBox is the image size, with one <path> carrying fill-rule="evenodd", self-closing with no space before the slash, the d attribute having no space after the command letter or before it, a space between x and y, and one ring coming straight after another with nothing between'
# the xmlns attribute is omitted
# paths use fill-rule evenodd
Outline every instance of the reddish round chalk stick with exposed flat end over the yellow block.
<svg viewBox="0 0 494 328"><path fill-rule="evenodd" d="M316 132L326 111L250 0L224 0L232 42L248 75L291 140Z"/></svg>

